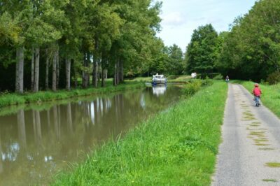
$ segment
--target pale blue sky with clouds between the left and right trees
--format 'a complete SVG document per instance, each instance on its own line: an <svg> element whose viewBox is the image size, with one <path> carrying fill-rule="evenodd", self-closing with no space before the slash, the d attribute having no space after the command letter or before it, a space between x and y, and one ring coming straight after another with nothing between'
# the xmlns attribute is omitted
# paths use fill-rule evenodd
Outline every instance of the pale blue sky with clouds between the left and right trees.
<svg viewBox="0 0 280 186"><path fill-rule="evenodd" d="M211 23L216 31L228 31L235 17L248 13L255 0L162 0L162 30L165 45L185 51L193 31Z"/></svg>

